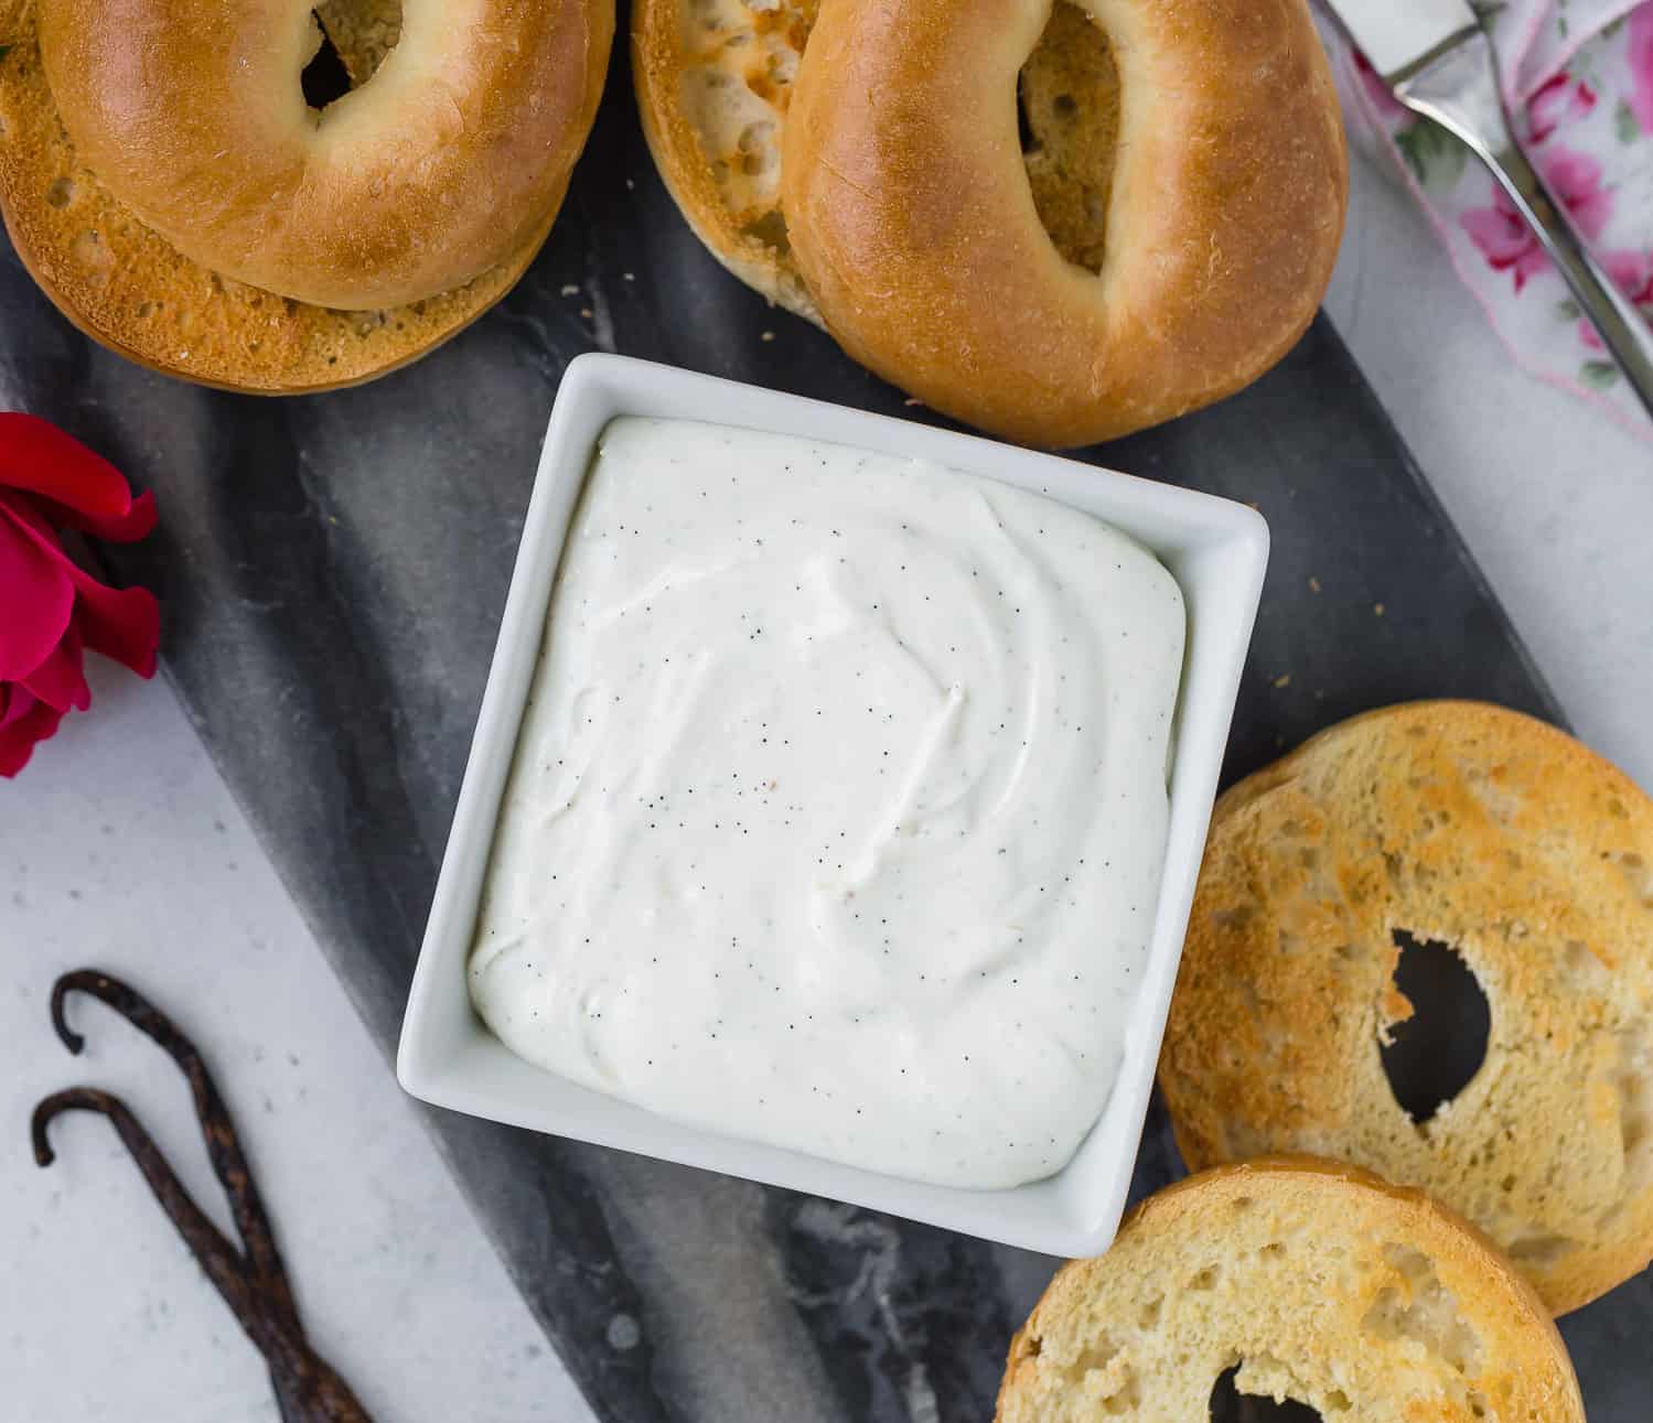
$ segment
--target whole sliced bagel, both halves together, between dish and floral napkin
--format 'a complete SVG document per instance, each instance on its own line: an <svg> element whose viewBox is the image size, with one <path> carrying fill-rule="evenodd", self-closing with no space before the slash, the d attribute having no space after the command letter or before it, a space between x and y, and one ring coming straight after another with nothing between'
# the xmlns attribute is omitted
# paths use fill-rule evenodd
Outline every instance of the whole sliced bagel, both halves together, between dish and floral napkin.
<svg viewBox="0 0 1653 1423"><path fill-rule="evenodd" d="M1303 0L638 0L631 46L711 251L997 435L1218 400L1331 279L1347 154Z"/></svg>

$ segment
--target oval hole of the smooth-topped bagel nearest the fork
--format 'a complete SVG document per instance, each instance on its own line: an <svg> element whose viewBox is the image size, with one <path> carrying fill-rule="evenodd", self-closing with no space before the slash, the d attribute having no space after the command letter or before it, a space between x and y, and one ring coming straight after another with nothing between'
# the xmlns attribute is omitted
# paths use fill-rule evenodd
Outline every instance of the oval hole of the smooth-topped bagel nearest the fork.
<svg viewBox="0 0 1653 1423"><path fill-rule="evenodd" d="M1033 207L1068 261L1101 271L1119 142L1119 69L1106 31L1056 0L1017 86Z"/></svg>

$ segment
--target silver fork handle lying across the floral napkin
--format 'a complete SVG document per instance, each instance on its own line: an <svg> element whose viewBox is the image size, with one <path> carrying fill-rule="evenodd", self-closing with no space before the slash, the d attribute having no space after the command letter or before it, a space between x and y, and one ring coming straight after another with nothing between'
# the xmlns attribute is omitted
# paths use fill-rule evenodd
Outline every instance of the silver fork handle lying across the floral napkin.
<svg viewBox="0 0 1653 1423"><path fill-rule="evenodd" d="M1397 83L1395 98L1486 164L1653 416L1653 327L1602 271L1511 136L1491 40L1481 31L1470 35Z"/></svg>

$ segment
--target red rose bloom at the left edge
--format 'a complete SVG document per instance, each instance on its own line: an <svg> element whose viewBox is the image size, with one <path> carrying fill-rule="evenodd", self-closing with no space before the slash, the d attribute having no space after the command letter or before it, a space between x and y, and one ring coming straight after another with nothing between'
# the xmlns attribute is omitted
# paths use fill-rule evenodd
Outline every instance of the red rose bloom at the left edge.
<svg viewBox="0 0 1653 1423"><path fill-rule="evenodd" d="M0 412L0 775L17 775L64 712L91 706L83 650L155 674L155 598L99 583L58 529L126 544L154 527L154 497L134 499L107 459L45 420Z"/></svg>

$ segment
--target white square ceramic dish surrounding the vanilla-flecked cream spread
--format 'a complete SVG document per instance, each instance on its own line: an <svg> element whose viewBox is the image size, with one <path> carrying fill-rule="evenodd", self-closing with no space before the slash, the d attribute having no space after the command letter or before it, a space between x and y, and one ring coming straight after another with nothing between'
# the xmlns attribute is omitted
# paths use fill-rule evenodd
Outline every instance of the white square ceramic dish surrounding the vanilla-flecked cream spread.
<svg viewBox="0 0 1653 1423"><path fill-rule="evenodd" d="M1189 641L1170 770L1170 828L1146 977L1106 1109L1056 1175L962 1190L879 1175L689 1127L512 1054L471 1007L466 960L499 803L539 658L562 544L603 426L701 420L922 459L1043 491L1150 549L1182 587ZM1154 1086L1205 831L1268 564L1253 509L969 435L617 355L582 355L557 392L408 995L397 1076L435 1106L891 1211L1048 1254L1096 1254L1117 1230Z"/></svg>

